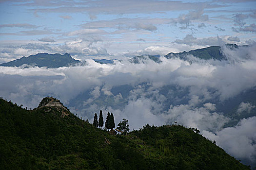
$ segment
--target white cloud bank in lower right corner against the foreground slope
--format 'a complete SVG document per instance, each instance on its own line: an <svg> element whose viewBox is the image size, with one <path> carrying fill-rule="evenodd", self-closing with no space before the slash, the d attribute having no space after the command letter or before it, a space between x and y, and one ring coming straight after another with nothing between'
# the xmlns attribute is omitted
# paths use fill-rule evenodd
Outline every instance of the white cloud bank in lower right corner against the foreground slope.
<svg viewBox="0 0 256 170"><path fill-rule="evenodd" d="M247 165L255 166L256 162L256 117L242 119L235 127L224 128L216 134L203 131L202 134L227 153L241 159Z"/></svg>

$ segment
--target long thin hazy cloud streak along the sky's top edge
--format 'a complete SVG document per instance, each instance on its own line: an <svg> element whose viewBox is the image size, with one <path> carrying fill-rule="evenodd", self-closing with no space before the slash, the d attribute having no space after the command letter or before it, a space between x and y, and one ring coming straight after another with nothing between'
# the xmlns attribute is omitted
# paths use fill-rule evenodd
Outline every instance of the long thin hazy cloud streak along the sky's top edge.
<svg viewBox="0 0 256 170"><path fill-rule="evenodd" d="M177 10L192 10L197 9L198 7L204 6L205 8L216 8L221 7L221 5L217 4L207 4L205 2L182 2L182 1L148 1L148 0L130 0L128 1L117 1L116 0L108 0L107 3L104 1L84 1L78 2L66 2L63 5L59 6L59 1L53 3L52 1L44 1L44 2L32 2L20 4L25 6L56 6L55 8L36 8L32 9L32 11L37 11L40 13L81 13L87 12L90 15L98 15L98 14L136 14L138 11L143 14L148 14L152 12L163 12L163 11L177 11Z"/></svg>

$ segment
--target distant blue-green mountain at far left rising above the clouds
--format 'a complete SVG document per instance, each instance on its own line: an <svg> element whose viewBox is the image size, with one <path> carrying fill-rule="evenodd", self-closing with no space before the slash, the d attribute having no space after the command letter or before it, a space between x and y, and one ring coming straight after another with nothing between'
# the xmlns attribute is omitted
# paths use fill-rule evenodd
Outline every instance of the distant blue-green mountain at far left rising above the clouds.
<svg viewBox="0 0 256 170"><path fill-rule="evenodd" d="M75 65L77 63L81 62L72 58L68 53L65 53L64 55L59 53L38 53L36 55L30 55L28 57L22 57L20 59L13 60L8 63L2 63L0 66L20 67L22 65L29 65L37 67L59 68Z"/></svg>

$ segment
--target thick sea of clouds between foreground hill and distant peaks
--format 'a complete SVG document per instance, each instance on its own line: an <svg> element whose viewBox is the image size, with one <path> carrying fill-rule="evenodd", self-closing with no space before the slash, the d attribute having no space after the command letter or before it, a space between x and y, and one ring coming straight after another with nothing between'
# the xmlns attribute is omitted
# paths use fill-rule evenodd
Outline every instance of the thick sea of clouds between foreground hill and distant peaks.
<svg viewBox="0 0 256 170"><path fill-rule="evenodd" d="M124 59L101 65L88 59L85 65L70 68L0 67L0 96L28 108L53 96L83 119L92 121L102 109L104 115L114 113L116 124L128 119L131 129L177 121L199 129L227 153L256 166L256 116L224 127L231 117L217 108L256 87L256 45L235 50L223 47L222 51L227 60L160 57L161 63L134 64ZM116 87L129 90L117 93ZM255 107L241 102L236 113Z"/></svg>

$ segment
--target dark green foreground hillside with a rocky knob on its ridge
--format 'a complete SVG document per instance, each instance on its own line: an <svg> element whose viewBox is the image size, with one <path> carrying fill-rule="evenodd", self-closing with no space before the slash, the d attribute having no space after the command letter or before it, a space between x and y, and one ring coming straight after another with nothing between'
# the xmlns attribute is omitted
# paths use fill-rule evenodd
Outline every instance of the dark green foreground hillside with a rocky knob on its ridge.
<svg viewBox="0 0 256 170"><path fill-rule="evenodd" d="M0 128L1 170L250 169L197 129L147 124L123 139L79 119L52 97L33 110L0 99Z"/></svg>

